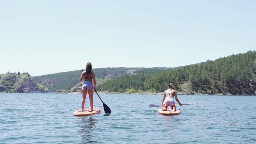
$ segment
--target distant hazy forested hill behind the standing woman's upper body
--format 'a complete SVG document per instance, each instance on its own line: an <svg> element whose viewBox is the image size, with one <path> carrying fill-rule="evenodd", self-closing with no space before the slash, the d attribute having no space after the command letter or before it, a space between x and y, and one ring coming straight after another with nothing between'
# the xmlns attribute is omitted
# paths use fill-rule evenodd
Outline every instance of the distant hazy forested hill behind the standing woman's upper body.
<svg viewBox="0 0 256 144"><path fill-rule="evenodd" d="M179 68L179 67L177 67ZM176 68L93 68L92 70L96 73L96 82L98 84L103 84L107 80L112 80L113 78L121 76L129 76L138 73L162 73L168 70ZM50 90L71 90L77 87L81 82L79 78L81 76L81 70L74 70L70 72L60 72L56 74L47 74L43 76L35 76L34 79L39 84L49 88Z"/></svg>

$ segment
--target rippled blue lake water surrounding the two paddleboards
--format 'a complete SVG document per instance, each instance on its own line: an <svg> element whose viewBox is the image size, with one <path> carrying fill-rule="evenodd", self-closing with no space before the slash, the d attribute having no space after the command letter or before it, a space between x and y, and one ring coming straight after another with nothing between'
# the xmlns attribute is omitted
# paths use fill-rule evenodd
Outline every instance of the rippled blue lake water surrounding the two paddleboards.
<svg viewBox="0 0 256 144"><path fill-rule="evenodd" d="M162 95L99 94L112 110L77 117L82 94L0 93L0 144L255 144L256 96L178 95L180 115L157 113ZM90 107L87 96L85 108Z"/></svg>

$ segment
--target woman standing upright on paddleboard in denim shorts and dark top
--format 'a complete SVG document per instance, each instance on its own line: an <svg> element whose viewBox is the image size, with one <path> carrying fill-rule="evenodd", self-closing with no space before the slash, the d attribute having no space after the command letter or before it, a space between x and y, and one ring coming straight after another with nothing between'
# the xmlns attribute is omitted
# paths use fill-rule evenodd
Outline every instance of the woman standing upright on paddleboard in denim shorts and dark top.
<svg viewBox="0 0 256 144"><path fill-rule="evenodd" d="M91 111L93 111L93 89L96 91L96 80L95 80L95 72L92 71L92 64L88 62L86 64L86 70L82 72L82 75L80 77L80 82L84 78L84 84L82 86L82 112L84 111L84 103L86 99L86 94L88 92L89 94L89 99L90 99L90 106L91 106ZM92 86L92 80L93 80L93 85Z"/></svg>

